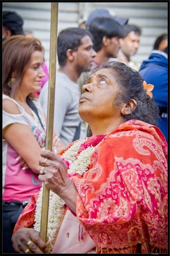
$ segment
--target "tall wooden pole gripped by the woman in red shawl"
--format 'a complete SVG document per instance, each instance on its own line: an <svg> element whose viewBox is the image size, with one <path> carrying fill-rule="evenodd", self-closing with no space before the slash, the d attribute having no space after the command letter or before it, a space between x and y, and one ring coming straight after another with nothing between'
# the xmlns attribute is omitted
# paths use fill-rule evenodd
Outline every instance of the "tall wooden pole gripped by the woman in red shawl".
<svg viewBox="0 0 170 256"><path fill-rule="evenodd" d="M57 56L57 25L58 25L58 2L51 2L51 30L50 30L50 63L48 80L48 108L47 108L47 135L45 149L52 151L53 148L53 123L54 123L54 100L55 100L55 72ZM47 239L48 204L50 190L43 184L42 210L40 235L44 242Z"/></svg>

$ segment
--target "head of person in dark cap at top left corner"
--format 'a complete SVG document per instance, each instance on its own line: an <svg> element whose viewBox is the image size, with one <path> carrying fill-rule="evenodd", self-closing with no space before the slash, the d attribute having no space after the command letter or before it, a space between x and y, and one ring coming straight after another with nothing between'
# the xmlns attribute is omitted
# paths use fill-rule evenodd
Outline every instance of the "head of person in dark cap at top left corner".
<svg viewBox="0 0 170 256"><path fill-rule="evenodd" d="M24 24L22 18L14 11L2 12L2 39L8 37L24 34L22 25Z"/></svg>

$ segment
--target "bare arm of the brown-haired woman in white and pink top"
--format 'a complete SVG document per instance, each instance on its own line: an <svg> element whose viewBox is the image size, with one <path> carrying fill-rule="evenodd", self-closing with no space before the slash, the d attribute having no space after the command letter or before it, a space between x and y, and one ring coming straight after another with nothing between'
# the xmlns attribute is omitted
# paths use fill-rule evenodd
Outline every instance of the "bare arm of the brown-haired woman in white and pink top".
<svg viewBox="0 0 170 256"><path fill-rule="evenodd" d="M2 108L10 114L21 114L17 105L11 100L3 100ZM33 172L39 174L38 162L42 151L29 126L14 123L6 126L3 138L18 152L18 160L22 167L30 167ZM53 146L57 146L57 137L54 137Z"/></svg>

